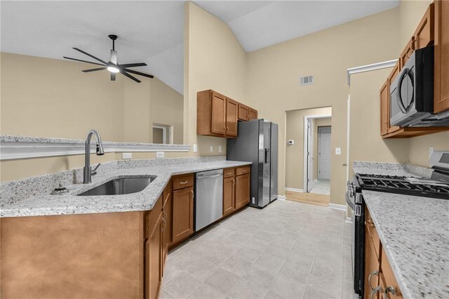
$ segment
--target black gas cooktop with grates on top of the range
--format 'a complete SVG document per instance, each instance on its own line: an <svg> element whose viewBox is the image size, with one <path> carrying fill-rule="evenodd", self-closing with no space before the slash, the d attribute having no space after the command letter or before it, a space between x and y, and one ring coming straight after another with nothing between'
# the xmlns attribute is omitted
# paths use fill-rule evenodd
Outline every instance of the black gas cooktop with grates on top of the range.
<svg viewBox="0 0 449 299"><path fill-rule="evenodd" d="M363 190L449 199L449 182L443 182L447 185L431 185L409 182L402 176L359 173L356 174L356 179Z"/></svg>

